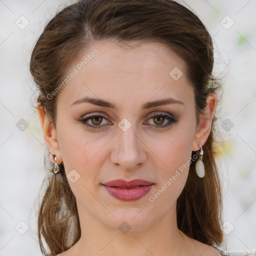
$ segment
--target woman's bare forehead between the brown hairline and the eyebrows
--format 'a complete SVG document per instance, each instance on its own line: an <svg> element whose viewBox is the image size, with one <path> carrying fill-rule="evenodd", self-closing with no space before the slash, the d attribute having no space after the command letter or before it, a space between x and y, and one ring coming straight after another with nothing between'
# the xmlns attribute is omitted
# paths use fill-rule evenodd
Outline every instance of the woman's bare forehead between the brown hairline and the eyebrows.
<svg viewBox="0 0 256 256"><path fill-rule="evenodd" d="M185 63L158 42L141 43L133 48L110 41L95 42L72 64L69 72L74 70L75 75L58 95L59 103L71 104L83 96L103 98L117 106L126 101L144 103L166 96L189 102L193 95ZM172 70L180 76L178 79Z"/></svg>

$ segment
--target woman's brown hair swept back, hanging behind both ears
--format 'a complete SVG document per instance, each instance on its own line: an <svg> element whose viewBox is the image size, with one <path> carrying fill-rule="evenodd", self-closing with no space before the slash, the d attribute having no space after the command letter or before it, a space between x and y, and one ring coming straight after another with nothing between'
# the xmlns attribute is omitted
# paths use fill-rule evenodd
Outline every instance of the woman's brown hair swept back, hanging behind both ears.
<svg viewBox="0 0 256 256"><path fill-rule="evenodd" d="M213 44L200 19L173 0L80 0L59 11L45 26L30 60L30 72L39 91L37 102L56 124L56 96L47 97L63 80L71 64L95 41L160 42L186 63L185 73L194 91L196 119L206 106L206 95L221 83L212 76ZM222 195L213 150L214 120L203 145L206 175L195 174L195 162L177 199L177 225L187 236L210 246L220 245ZM192 152L191 156L195 152ZM44 255L61 253L80 238L76 200L65 176L48 176L40 203L38 237ZM46 246L43 245L43 239Z"/></svg>

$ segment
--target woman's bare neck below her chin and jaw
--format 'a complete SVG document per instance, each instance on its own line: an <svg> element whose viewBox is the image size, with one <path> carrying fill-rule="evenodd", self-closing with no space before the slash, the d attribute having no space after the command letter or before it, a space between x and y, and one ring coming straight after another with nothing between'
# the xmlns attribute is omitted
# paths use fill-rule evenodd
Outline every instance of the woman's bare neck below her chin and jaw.
<svg viewBox="0 0 256 256"><path fill-rule="evenodd" d="M154 224L139 230L112 228L77 205L81 237L71 248L73 255L188 255L189 248L176 224L173 207ZM120 223L122 223L120 221ZM126 225L126 226L125 226ZM128 224L123 223L128 228ZM71 251L70 251L71 252Z"/></svg>

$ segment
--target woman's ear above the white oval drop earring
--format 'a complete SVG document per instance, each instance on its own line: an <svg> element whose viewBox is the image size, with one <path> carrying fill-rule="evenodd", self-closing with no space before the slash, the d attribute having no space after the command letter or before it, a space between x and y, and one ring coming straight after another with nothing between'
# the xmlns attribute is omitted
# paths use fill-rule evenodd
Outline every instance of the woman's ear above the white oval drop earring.
<svg viewBox="0 0 256 256"><path fill-rule="evenodd" d="M210 134L212 119L216 111L217 95L214 92L209 92L206 96L206 103L205 112L200 115L200 124L195 133L193 151L199 150L198 144L202 146Z"/></svg>

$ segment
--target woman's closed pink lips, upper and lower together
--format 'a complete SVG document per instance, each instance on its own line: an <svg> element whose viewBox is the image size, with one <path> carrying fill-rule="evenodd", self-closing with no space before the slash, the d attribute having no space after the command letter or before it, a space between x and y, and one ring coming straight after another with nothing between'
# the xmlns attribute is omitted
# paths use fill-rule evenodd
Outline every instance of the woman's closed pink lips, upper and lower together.
<svg viewBox="0 0 256 256"><path fill-rule="evenodd" d="M152 182L143 179L131 181L115 179L103 184L110 195L123 201L137 200L143 197L150 191L152 185Z"/></svg>

